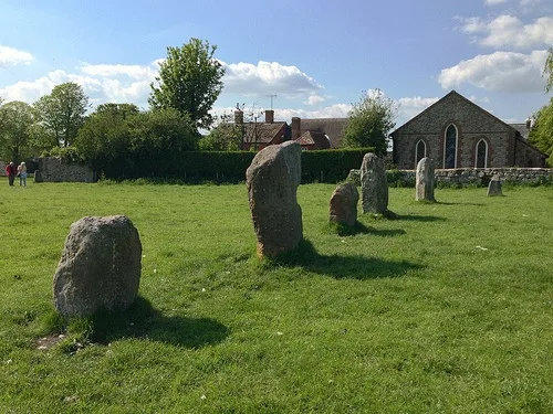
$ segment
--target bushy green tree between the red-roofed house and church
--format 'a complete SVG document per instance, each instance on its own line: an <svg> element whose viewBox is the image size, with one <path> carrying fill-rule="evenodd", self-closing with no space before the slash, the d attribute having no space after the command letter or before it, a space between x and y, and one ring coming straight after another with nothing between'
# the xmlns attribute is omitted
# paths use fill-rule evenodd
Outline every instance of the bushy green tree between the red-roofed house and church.
<svg viewBox="0 0 553 414"><path fill-rule="evenodd" d="M388 134L396 125L397 106L390 98L376 89L363 93L362 98L353 104L349 121L344 131L342 147L374 147L379 157L386 155Z"/></svg>

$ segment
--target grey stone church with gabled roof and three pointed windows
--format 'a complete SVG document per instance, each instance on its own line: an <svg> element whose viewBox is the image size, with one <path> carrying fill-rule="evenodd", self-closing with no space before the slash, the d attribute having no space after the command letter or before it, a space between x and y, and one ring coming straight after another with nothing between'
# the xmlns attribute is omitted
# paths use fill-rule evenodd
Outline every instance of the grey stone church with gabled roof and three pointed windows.
<svg viewBox="0 0 553 414"><path fill-rule="evenodd" d="M529 131L529 123L505 124L451 91L392 132L393 160L400 170L416 169L424 157L439 169L545 167Z"/></svg>

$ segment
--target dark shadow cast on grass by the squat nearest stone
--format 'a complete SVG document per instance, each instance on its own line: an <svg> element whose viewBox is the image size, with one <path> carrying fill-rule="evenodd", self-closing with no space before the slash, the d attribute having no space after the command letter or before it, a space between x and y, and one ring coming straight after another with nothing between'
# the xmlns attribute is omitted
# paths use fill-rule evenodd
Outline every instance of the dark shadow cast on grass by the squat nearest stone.
<svg viewBox="0 0 553 414"><path fill-rule="evenodd" d="M92 318L93 342L107 343L121 338L147 338L186 348L221 342L229 329L209 318L167 317L138 297L126 311L100 311Z"/></svg>

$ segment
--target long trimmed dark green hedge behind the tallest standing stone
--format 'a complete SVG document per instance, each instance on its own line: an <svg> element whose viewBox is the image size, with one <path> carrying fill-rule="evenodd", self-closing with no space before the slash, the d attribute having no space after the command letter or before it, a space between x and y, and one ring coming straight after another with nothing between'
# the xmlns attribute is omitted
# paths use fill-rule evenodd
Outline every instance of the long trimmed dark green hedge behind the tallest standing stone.
<svg viewBox="0 0 553 414"><path fill-rule="evenodd" d="M371 148L302 151L303 182L337 182L353 168L359 168ZM125 159L98 162L96 168L106 179L150 178L184 182L238 182L246 180L246 170L255 152L187 151L173 153L126 153Z"/></svg>

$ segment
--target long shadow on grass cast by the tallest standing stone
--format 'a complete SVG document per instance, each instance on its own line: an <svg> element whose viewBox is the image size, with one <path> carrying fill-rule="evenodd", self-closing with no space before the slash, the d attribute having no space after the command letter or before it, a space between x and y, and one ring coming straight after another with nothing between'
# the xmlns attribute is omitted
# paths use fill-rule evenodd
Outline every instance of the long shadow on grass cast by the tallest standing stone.
<svg viewBox="0 0 553 414"><path fill-rule="evenodd" d="M298 250L268 261L269 266L301 266L306 270L328 275L337 279L376 279L400 277L408 270L421 268L421 265L406 261L383 261L376 257L321 255L313 244L303 240Z"/></svg>

